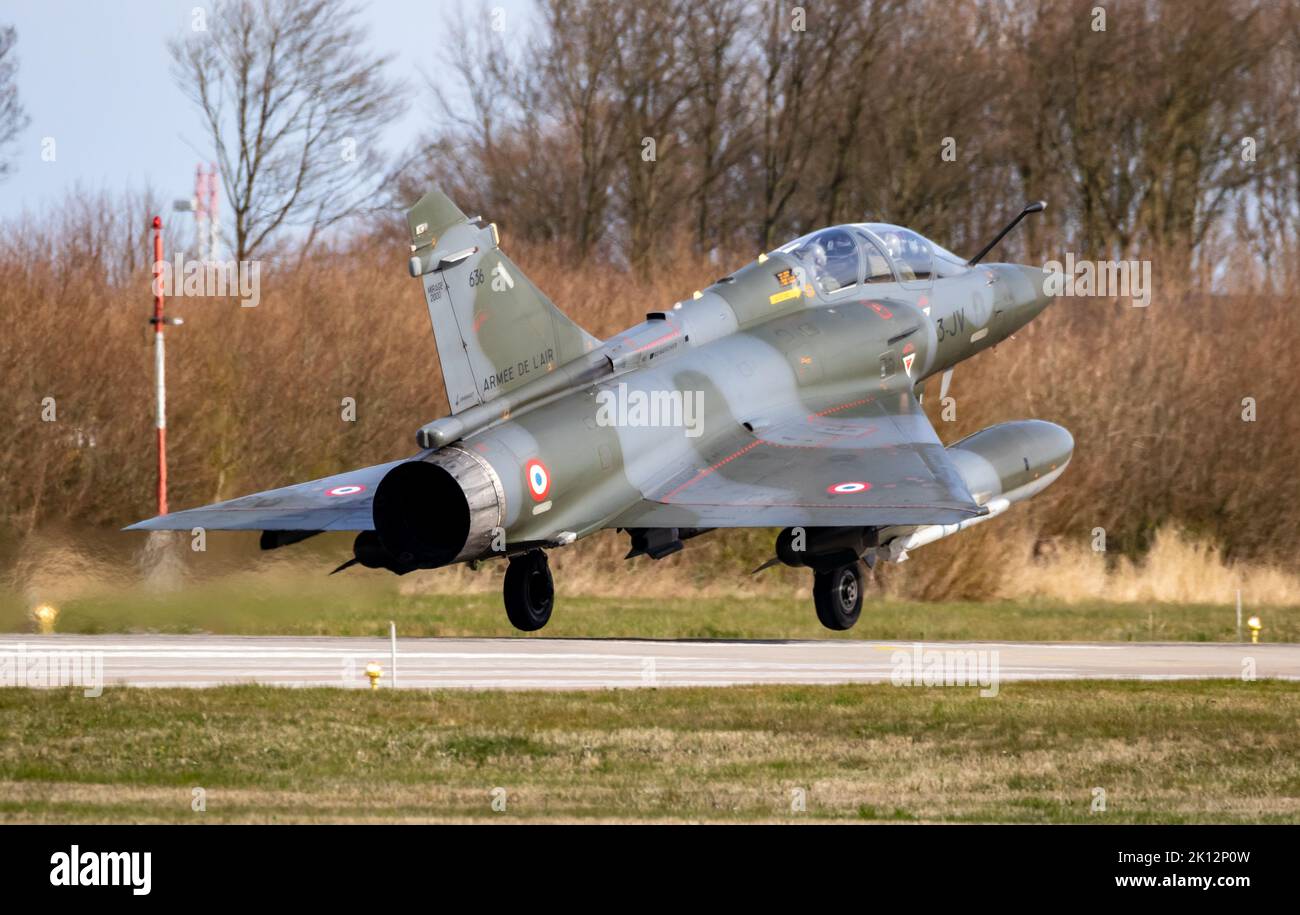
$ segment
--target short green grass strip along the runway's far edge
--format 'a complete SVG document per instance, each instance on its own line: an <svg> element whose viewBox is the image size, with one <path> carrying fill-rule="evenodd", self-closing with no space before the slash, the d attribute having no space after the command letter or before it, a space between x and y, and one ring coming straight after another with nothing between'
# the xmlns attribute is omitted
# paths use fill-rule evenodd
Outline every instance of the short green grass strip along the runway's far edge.
<svg viewBox="0 0 1300 915"><path fill-rule="evenodd" d="M495 593L402 594L395 589L216 582L174 593L96 594L58 604L57 630L220 634L517 636ZM1247 613L1254 612L1247 608ZM1300 641L1300 607L1261 612L1264 638ZM29 607L0 594L0 632L31 632ZM848 633L823 629L810 599L566 597L547 637L902 638L1005 641L1231 641L1226 604L1053 600L871 600Z"/></svg>

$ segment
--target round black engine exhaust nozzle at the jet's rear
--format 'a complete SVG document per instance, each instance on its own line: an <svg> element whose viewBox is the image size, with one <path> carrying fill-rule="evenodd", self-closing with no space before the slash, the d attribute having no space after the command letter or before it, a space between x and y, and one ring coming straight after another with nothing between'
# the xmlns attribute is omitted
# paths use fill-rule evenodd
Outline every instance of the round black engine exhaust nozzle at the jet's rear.
<svg viewBox="0 0 1300 915"><path fill-rule="evenodd" d="M354 546L356 561L398 574L478 559L504 522L506 495L491 464L446 447L398 464L374 490L374 530Z"/></svg>

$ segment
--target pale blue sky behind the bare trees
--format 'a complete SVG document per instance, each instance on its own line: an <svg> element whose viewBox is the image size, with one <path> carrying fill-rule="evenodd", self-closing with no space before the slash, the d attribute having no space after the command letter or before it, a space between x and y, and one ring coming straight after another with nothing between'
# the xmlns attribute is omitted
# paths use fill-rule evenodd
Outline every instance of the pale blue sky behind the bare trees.
<svg viewBox="0 0 1300 915"><path fill-rule="evenodd" d="M0 25L18 30L18 94L31 118L12 148L0 183L0 220L39 213L82 187L152 187L186 199L194 169L211 157L198 109L176 86L168 39L187 32L191 10L211 0L0 0ZM393 75L422 88L421 69L439 51L441 23L502 8L510 29L529 27L529 0L365 0L377 52L393 53ZM209 23L209 27L211 23ZM439 34L441 32L441 34ZM402 149L436 117L416 96L385 143ZM46 138L55 161L44 161Z"/></svg>

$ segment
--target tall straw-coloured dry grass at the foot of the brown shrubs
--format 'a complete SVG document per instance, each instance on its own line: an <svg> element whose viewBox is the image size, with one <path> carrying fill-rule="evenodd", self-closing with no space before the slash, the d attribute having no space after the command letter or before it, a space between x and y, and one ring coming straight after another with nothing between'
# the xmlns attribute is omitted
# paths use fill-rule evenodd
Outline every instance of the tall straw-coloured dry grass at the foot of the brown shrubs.
<svg viewBox="0 0 1300 915"><path fill-rule="evenodd" d="M419 604L425 598L481 597L493 604L504 571L502 563L489 563L478 571L458 565L400 578L355 569L326 578L333 563L347 555L347 535L272 554L256 552L238 534L211 535L204 554L188 551L187 543L186 537L174 535L172 548L160 558L143 537L32 535L16 551L0 591L29 608L133 600L161 608L168 599L238 602L240 593L281 595L290 603L295 594L313 594L326 603L382 606L396 597ZM770 543L771 532L719 532L660 561L628 561L623 559L627 538L606 532L554 551L551 564L566 599L686 600L701 608L749 600L807 603L806 572L776 567L750 574L768 555ZM1300 574L1266 561L1228 560L1214 543L1175 526L1157 532L1152 548L1134 560L1065 539L1044 545L1013 516L918 550L901 565L878 565L870 599L1231 606L1238 591L1252 610L1300 607Z"/></svg>

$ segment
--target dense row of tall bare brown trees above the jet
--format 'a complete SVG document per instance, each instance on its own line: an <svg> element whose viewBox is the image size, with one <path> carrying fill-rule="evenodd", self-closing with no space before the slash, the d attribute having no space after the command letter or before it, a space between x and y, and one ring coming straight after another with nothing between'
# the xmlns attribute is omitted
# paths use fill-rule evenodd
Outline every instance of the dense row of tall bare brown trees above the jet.
<svg viewBox="0 0 1300 915"><path fill-rule="evenodd" d="M1109 31L1091 0L537 9L515 53L452 27L468 104L442 91L455 78L430 84L443 105L407 199L436 178L517 237L637 266L679 234L771 247L864 217L974 251L1034 199L1053 207L1006 256L1063 233L1180 268L1206 238L1249 235L1274 272L1296 261L1294 4L1132 0Z"/></svg>

